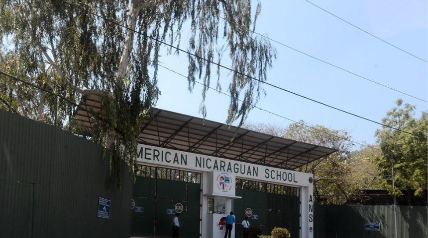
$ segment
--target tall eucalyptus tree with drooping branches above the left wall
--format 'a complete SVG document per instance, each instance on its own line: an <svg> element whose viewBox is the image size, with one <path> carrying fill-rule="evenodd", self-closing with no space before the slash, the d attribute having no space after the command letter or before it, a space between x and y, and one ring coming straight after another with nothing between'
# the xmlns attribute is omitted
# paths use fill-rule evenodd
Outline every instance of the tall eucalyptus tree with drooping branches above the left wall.
<svg viewBox="0 0 428 238"><path fill-rule="evenodd" d="M204 117L211 77L221 89L220 67L229 62L226 122L241 124L264 94L276 57L253 33L260 10L251 0L2 0L0 68L22 81L1 75L0 107L74 131L76 104L97 95L102 112L90 137L111 149L113 165L134 163L138 127L159 96L165 49L187 57L190 90L196 80L204 84ZM190 33L182 39L184 26Z"/></svg>

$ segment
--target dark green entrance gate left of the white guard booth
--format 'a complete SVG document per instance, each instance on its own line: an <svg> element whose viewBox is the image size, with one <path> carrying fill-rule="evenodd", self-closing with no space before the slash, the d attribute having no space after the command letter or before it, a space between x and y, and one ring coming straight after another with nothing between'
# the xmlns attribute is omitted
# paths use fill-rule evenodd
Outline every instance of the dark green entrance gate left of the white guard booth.
<svg viewBox="0 0 428 238"><path fill-rule="evenodd" d="M200 237L201 174L139 166L132 194L132 237L169 238L180 213L181 237Z"/></svg>

